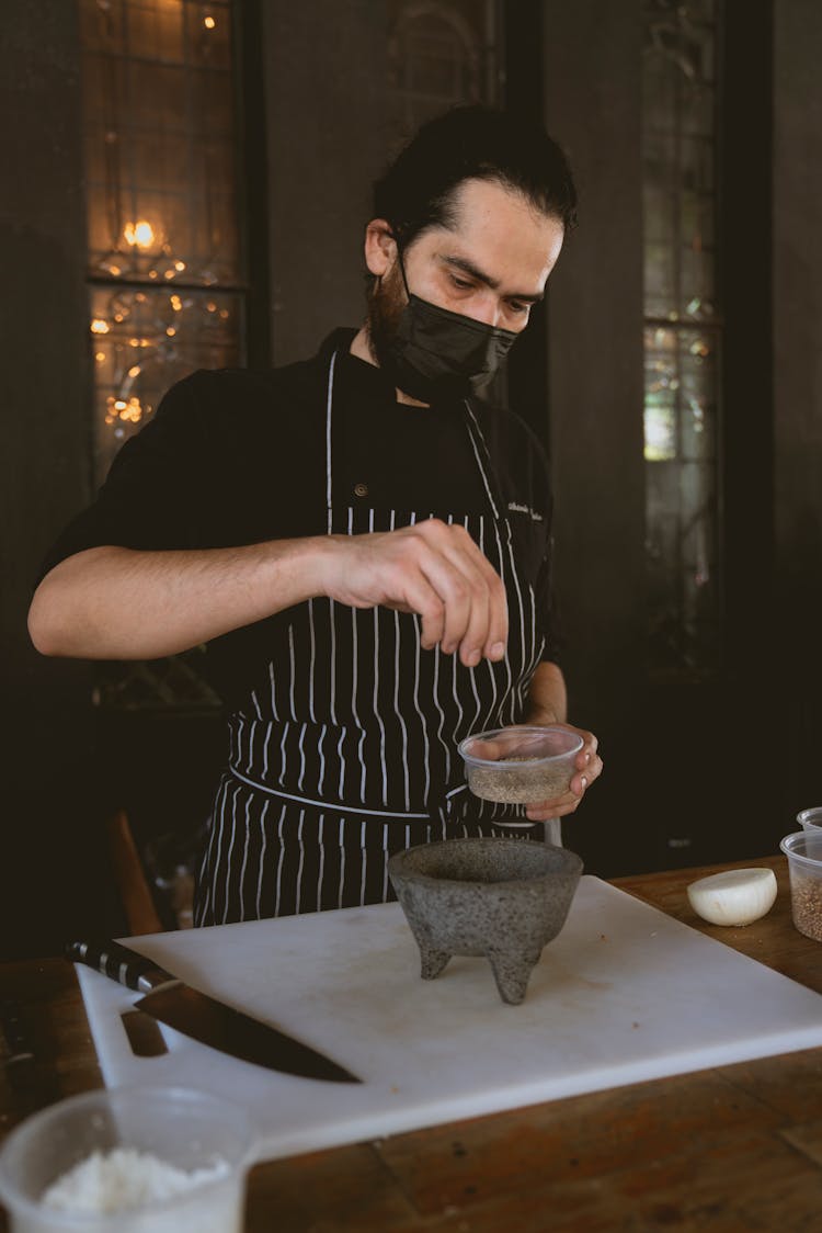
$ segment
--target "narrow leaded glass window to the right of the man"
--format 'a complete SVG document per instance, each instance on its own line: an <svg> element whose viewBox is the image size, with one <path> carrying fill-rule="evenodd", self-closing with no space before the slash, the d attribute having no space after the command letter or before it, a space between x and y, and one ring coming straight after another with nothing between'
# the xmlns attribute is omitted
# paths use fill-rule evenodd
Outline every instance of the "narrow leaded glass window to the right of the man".
<svg viewBox="0 0 822 1233"><path fill-rule="evenodd" d="M646 550L652 668L716 667L718 0L648 0L643 72Z"/></svg>

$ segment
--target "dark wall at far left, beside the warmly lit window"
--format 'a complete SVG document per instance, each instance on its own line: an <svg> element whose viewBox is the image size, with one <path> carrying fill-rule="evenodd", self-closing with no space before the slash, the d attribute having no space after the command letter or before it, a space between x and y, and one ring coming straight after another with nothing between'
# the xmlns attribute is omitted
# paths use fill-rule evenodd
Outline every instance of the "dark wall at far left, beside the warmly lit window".
<svg viewBox="0 0 822 1233"><path fill-rule="evenodd" d="M2 953L42 948L57 917L83 927L106 896L87 672L41 660L26 631L37 561L90 492L75 5L4 6L0 115Z"/></svg>

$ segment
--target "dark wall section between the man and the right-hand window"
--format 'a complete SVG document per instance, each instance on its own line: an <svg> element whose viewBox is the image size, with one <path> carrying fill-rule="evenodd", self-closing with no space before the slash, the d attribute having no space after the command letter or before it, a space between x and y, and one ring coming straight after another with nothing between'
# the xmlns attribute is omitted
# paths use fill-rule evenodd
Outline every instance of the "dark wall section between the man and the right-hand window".
<svg viewBox="0 0 822 1233"><path fill-rule="evenodd" d="M642 4L547 0L543 30L546 125L579 189L548 296L556 586L569 714L606 761L564 835L596 872L636 827L642 757Z"/></svg>

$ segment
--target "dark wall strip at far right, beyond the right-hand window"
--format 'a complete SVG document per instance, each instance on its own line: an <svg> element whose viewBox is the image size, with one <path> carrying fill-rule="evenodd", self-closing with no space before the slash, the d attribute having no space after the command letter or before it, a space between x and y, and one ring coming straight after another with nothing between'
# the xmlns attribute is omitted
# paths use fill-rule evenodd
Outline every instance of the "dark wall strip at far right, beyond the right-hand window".
<svg viewBox="0 0 822 1233"><path fill-rule="evenodd" d="M776 718L786 734L785 817L822 800L821 49L822 6L779 0L773 180L778 626L763 658L774 665Z"/></svg>

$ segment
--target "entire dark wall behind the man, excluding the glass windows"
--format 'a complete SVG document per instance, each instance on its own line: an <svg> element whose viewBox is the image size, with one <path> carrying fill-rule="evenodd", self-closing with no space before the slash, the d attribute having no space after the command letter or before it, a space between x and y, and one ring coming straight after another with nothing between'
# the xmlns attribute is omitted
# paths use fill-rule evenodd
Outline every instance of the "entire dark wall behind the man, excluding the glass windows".
<svg viewBox="0 0 822 1233"><path fill-rule="evenodd" d="M249 360L306 355L362 305L370 185L396 134L386 7L244 4ZM567 148L580 227L511 371L550 446L573 721L606 773L564 827L609 877L773 853L822 803L822 5L728 0L720 229L726 644L662 683L645 645L638 0L510 2L507 105ZM75 6L7 0L0 27L4 349L0 900L5 953L117 928L102 819L205 816L213 716L101 716L87 665L26 633L37 562L92 492ZM516 354L516 353L515 353ZM142 820L142 821L140 821Z"/></svg>

